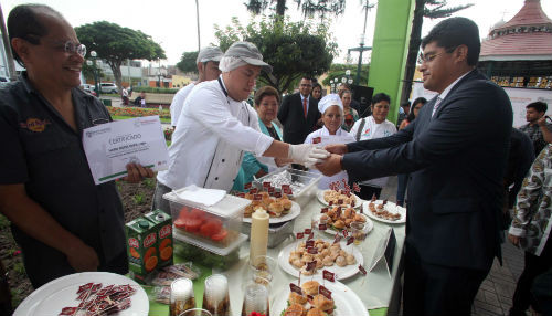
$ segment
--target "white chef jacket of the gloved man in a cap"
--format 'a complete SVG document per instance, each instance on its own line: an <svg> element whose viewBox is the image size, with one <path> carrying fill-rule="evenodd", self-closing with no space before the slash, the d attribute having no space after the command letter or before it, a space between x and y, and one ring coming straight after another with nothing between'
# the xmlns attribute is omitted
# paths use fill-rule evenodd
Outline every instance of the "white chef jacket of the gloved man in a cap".
<svg viewBox="0 0 552 316"><path fill-rule="evenodd" d="M157 180L174 190L195 185L229 191L243 151L261 156L273 141L261 133L253 107L227 96L222 76L202 82L184 102L169 147L169 169Z"/></svg>

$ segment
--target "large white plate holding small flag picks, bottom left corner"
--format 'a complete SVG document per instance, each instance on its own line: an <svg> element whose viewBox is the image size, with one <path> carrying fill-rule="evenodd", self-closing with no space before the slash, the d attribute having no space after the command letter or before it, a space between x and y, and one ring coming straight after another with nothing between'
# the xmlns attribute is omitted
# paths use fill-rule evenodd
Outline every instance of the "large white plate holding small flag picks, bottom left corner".
<svg viewBox="0 0 552 316"><path fill-rule="evenodd" d="M13 316L52 316L59 315L64 307L76 307L81 303L81 301L76 299L78 287L89 282L102 283L104 286L109 284L132 285L136 293L130 296L130 307L116 315L148 315L148 296L134 280L108 272L83 272L70 274L42 285L19 305Z"/></svg>

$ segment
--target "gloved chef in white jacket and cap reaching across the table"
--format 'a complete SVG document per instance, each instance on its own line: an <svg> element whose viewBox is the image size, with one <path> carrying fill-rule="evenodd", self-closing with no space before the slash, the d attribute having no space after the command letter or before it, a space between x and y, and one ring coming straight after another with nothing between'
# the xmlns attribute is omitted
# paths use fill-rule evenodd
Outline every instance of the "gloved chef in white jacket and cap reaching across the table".
<svg viewBox="0 0 552 316"><path fill-rule="evenodd" d="M254 44L232 44L219 67L221 76L198 84L184 102L169 147L169 169L157 176L153 209L170 211L162 194L190 185L229 191L244 151L307 166L329 155L312 145L289 145L261 131L257 114L245 99L261 70L270 73L272 66L263 62Z"/></svg>

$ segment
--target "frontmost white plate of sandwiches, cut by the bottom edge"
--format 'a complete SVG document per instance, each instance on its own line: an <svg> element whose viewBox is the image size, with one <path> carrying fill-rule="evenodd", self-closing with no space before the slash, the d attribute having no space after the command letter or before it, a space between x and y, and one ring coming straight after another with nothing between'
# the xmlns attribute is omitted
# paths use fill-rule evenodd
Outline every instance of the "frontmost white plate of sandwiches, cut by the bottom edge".
<svg viewBox="0 0 552 316"><path fill-rule="evenodd" d="M370 316L367 307L364 306L364 304L362 304L362 301L347 285L337 281L329 282L322 281L321 277L310 276L302 276L301 284L311 280L318 281L318 283L331 291L331 298L333 298L333 303L336 306L333 316ZM295 283L297 284L297 281L295 281ZM285 289L278 293L278 295L274 299L273 306L270 306L270 309L276 312L273 315L280 315L282 312L287 308L287 298L289 296L289 285L287 285Z"/></svg>

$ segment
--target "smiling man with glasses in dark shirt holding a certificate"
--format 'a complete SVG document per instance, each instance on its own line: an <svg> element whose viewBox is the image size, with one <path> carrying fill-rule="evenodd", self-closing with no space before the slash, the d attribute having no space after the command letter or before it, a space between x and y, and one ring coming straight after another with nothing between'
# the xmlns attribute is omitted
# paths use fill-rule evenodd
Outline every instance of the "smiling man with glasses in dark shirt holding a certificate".
<svg viewBox="0 0 552 316"><path fill-rule="evenodd" d="M115 182L95 186L83 129L112 120L81 91L86 48L61 13L22 4L8 17L15 60L26 71L0 88L0 212L12 224L36 288L75 272L128 272L125 217ZM128 180L152 177L127 166Z"/></svg>

